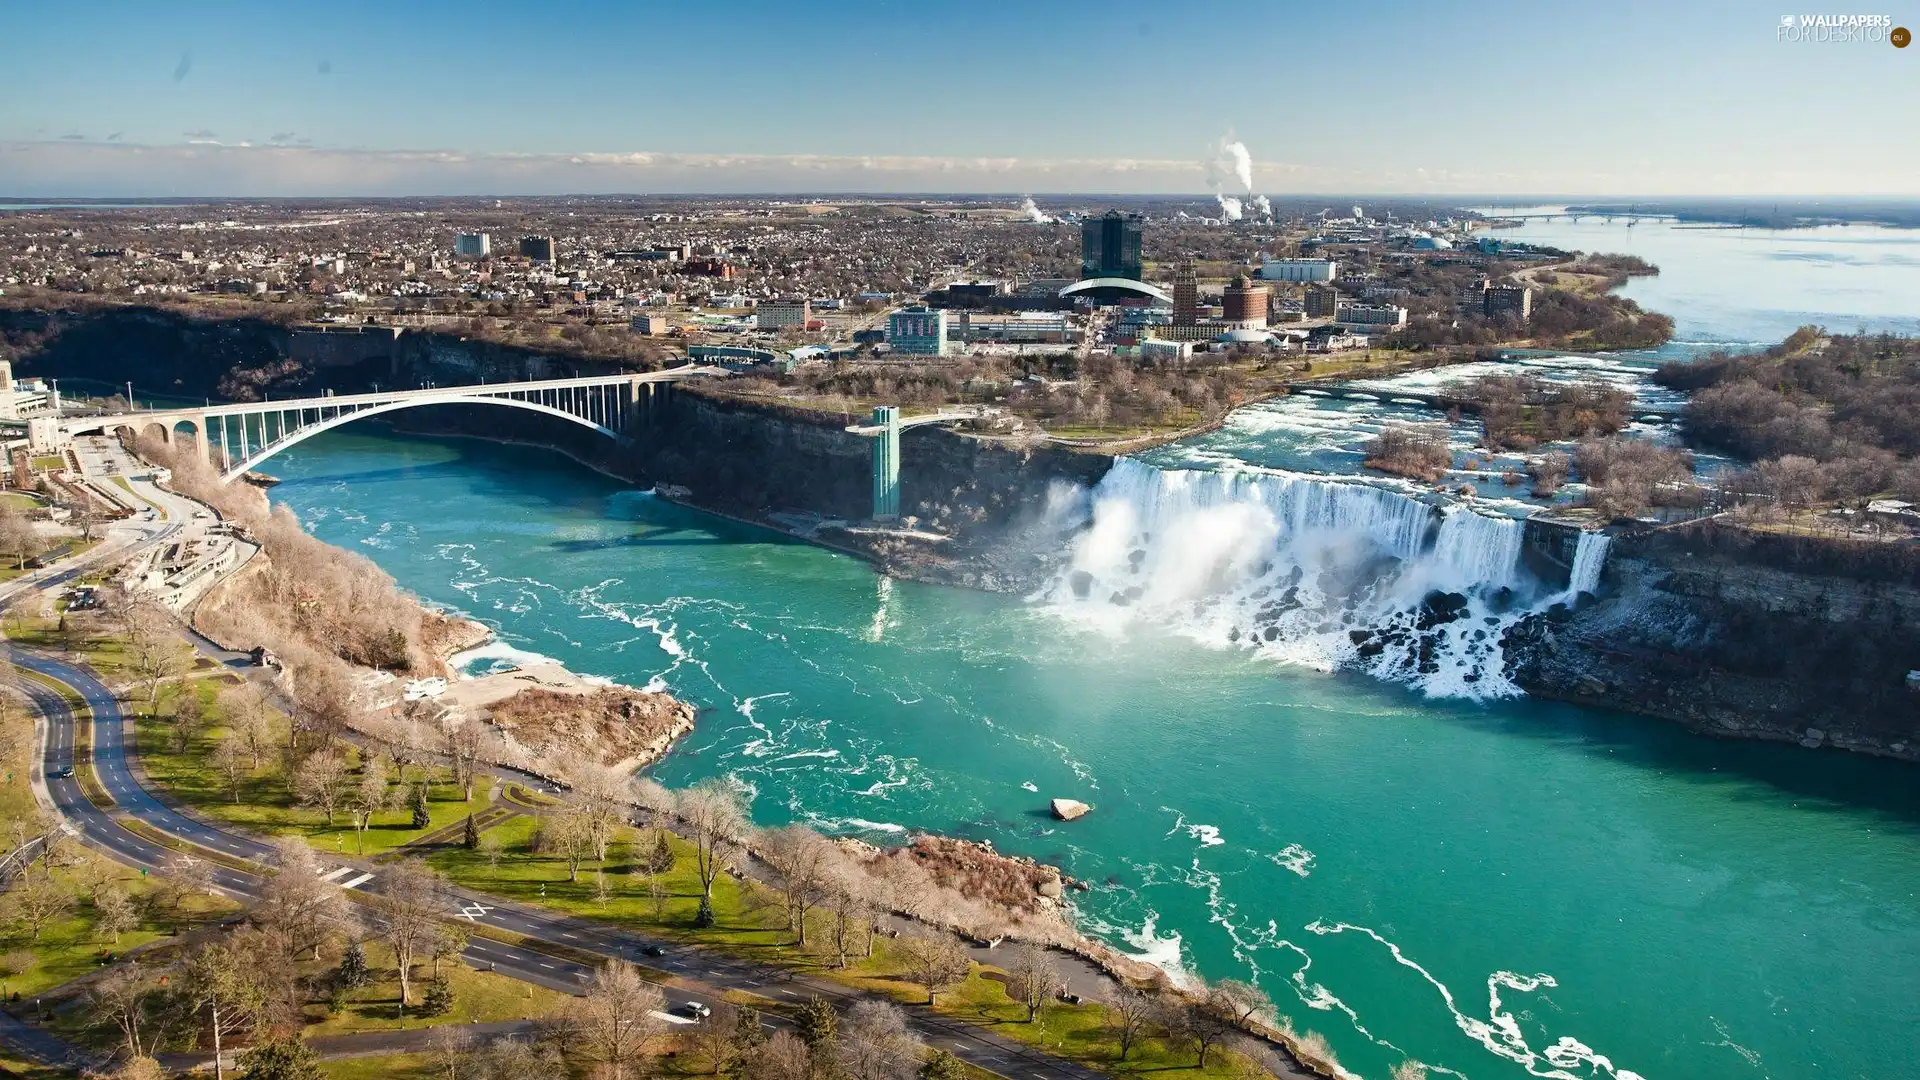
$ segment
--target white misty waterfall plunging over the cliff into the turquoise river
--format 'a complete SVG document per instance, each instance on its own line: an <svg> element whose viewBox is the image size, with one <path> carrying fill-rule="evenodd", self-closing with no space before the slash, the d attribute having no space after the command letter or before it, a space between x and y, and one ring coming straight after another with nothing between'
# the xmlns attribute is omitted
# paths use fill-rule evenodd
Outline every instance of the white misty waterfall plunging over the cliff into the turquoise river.
<svg viewBox="0 0 1920 1080"><path fill-rule="evenodd" d="M1294 473L1162 471L1121 457L1044 594L1108 632L1169 625L1213 646L1367 671L1432 696L1519 694L1501 636L1592 590L1605 536L1582 534L1572 588L1521 565L1524 525L1382 486Z"/></svg>

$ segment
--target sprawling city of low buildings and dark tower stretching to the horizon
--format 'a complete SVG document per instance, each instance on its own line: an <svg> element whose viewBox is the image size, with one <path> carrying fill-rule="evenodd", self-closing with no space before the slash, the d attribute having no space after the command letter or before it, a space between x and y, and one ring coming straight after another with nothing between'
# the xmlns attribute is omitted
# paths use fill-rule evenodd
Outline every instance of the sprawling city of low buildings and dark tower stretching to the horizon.
<svg viewBox="0 0 1920 1080"><path fill-rule="evenodd" d="M1187 229L1179 215L1154 221L1160 244L1194 252L1158 263L1171 269L1165 284L1148 281L1148 217L1121 209L1031 221L925 200L682 200L651 211L524 200L411 213L271 204L17 213L0 215L0 292L298 302L321 323L499 329L509 340L516 327L551 338L540 327L559 325L603 346L647 342L651 356L712 346L791 361L820 346L824 356L1164 357L1210 344L1363 344L1427 304L1394 267L1475 267L1498 250L1452 221L1413 229L1354 208L1308 221L1298 242L1271 227L1256 242L1300 254L1244 261L1233 234ZM1196 263L1215 267L1206 294ZM1457 298L1459 317L1524 323L1530 309L1526 286L1484 277ZM0 419L10 394L0 388Z"/></svg>

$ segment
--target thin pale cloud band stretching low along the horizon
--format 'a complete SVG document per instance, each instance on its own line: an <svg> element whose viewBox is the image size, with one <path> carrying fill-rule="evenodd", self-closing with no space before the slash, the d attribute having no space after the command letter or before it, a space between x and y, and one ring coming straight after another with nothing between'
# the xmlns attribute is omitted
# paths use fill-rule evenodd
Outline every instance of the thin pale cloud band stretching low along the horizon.
<svg viewBox="0 0 1920 1080"><path fill-rule="evenodd" d="M10 169L15 194L102 196L405 196L405 194L639 194L639 192L1200 192L1196 161L1142 158L970 158L826 154L478 154L459 150L340 150L296 144L236 146L211 131L190 144L140 146L42 138L0 142L21 158ZM31 152L31 154L29 154ZM1448 171L1379 169L1344 163L1261 161L1256 184L1269 194L1697 194L1688 173L1569 171L1551 167ZM1713 181L1709 177L1709 181ZM1730 181L1728 181L1730 183ZM1907 175L1862 175L1857 167L1774 177L1770 192L1910 190ZM1012 196L1012 198L1018 198Z"/></svg>

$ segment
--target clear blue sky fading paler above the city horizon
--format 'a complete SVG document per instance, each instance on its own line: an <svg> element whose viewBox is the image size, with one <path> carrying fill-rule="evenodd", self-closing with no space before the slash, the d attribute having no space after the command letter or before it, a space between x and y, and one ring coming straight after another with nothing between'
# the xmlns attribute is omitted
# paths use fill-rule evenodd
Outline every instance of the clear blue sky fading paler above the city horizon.
<svg viewBox="0 0 1920 1080"><path fill-rule="evenodd" d="M0 0L0 196L1920 194L1920 44L1784 13Z"/></svg>

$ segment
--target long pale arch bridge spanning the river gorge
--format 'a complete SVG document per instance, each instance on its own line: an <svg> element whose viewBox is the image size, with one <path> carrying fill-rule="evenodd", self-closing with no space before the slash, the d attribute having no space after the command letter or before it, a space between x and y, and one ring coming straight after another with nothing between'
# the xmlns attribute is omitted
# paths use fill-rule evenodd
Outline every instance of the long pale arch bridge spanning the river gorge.
<svg viewBox="0 0 1920 1080"><path fill-rule="evenodd" d="M660 382L720 375L714 367L674 367L643 375L589 375L584 379L543 379L530 382L480 382L472 386L430 386L376 394L326 394L288 402L248 402L200 409L152 409L58 421L63 440L81 434L129 429L146 434L159 429L173 442L177 429L192 429L200 454L213 459L221 450L221 479L232 480L275 454L315 434L357 419L417 409L420 405L503 405L559 417L591 429L616 442L630 442L626 430L641 421Z"/></svg>

